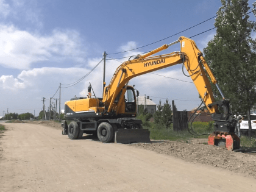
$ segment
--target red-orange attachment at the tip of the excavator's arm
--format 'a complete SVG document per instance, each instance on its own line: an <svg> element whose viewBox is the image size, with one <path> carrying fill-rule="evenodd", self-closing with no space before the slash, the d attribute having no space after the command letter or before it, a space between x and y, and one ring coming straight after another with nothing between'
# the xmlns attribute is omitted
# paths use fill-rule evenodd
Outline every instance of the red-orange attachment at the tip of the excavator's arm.
<svg viewBox="0 0 256 192"><path fill-rule="evenodd" d="M235 133L214 132L208 137L209 145L226 148L229 151L240 148L240 138Z"/></svg>

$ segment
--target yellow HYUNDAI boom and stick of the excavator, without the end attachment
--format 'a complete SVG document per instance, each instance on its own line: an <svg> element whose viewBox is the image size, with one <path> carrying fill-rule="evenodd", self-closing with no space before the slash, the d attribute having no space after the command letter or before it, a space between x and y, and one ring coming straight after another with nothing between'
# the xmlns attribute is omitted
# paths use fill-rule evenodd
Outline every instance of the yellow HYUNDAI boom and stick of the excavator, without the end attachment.
<svg viewBox="0 0 256 192"><path fill-rule="evenodd" d="M151 56L157 52L167 49L172 44L179 42L179 52ZM216 84L216 79L205 62L204 57L202 57L202 52L199 51L194 41L190 40L189 38L180 37L179 40L175 41L174 43L165 44L162 47L149 52L148 54L138 55L137 59L124 62L116 69L110 84L105 87L104 98L102 101L108 104L108 112L114 110L114 101L116 96L118 96L120 91L133 77L141 76L146 73L157 71L158 69L183 63L188 71L188 76L191 77L194 85L196 85L197 91L199 92L201 98L204 99L204 103L207 105L209 112L216 113L216 105L213 107L208 107L208 104L215 102L215 99L213 98L212 88L205 70L212 79L213 84Z"/></svg>

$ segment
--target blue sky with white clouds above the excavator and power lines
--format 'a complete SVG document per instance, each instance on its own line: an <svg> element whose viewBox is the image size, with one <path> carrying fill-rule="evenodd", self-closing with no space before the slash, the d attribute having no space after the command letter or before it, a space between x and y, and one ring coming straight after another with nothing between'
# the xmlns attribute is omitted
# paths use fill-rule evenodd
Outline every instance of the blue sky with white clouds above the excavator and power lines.
<svg viewBox="0 0 256 192"><path fill-rule="evenodd" d="M249 5L253 2L249 1ZM220 6L220 0L0 0L0 116L7 108L16 113L35 110L38 115L43 97L48 107L59 84L70 84L83 77L102 59L104 51L126 51L169 37L215 16ZM207 21L142 49L109 56L119 58L150 51L181 35L199 34L214 27L214 22ZM193 40L202 51L214 34L215 30L210 30ZM176 45L163 53L179 49ZM107 84L125 60L107 60ZM85 96L89 82L96 96L101 97L102 67L101 63L79 84L62 88L62 109L74 95ZM155 74L191 82L183 76L181 65ZM129 84L135 84L141 96L146 94L157 104L160 98L176 99L178 110L190 110L200 104L196 88L187 82L146 74ZM59 98L59 93L54 98Z"/></svg>

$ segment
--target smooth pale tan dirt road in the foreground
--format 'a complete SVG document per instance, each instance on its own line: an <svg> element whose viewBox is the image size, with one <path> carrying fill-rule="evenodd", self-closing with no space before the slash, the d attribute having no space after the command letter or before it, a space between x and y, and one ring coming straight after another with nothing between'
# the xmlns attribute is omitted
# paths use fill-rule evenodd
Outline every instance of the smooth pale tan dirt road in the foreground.
<svg viewBox="0 0 256 192"><path fill-rule="evenodd" d="M255 191L252 177L124 144L5 124L0 191Z"/></svg>

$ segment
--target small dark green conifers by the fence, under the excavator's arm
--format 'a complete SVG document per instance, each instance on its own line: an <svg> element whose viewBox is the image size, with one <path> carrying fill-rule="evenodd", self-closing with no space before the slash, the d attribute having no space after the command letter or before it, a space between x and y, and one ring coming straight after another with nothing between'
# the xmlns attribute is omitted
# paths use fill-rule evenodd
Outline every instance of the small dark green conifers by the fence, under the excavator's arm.
<svg viewBox="0 0 256 192"><path fill-rule="evenodd" d="M154 113L154 127L156 129L168 129L172 123L172 110L171 104L169 104L168 99L162 105L161 101L157 105L157 111Z"/></svg>

